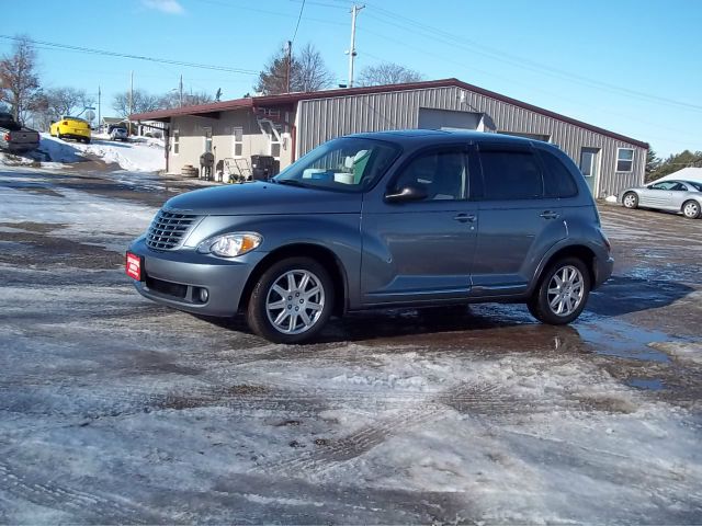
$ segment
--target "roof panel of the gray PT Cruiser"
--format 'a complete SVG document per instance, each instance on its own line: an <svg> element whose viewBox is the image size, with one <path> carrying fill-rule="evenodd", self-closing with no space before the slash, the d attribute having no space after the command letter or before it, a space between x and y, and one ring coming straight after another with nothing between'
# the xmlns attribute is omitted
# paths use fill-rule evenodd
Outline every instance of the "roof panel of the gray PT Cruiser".
<svg viewBox="0 0 702 526"><path fill-rule="evenodd" d="M458 130L458 129L399 129L387 132L372 132L364 134L353 134L347 137L358 137L364 139L378 139L407 146L431 146L453 142L499 142L513 145L530 145L536 142L558 149L555 145L543 142L536 139L516 137L507 134L490 134L485 132Z"/></svg>

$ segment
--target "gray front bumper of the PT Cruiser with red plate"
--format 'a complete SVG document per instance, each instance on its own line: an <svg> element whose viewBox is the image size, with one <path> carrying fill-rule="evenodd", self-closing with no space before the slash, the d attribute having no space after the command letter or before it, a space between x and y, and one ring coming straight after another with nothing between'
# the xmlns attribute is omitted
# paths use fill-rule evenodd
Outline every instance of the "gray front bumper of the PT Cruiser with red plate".
<svg viewBox="0 0 702 526"><path fill-rule="evenodd" d="M241 293L265 255L252 251L225 260L194 249L155 251L144 238L134 241L128 251L144 259L143 281L134 282L141 296L179 310L218 317L237 313ZM202 289L207 291L204 301Z"/></svg>

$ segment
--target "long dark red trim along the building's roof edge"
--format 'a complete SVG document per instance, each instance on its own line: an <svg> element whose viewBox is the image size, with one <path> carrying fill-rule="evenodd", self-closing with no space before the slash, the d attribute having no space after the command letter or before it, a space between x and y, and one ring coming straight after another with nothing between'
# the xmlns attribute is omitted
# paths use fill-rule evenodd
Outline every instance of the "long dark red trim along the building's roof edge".
<svg viewBox="0 0 702 526"><path fill-rule="evenodd" d="M507 104L511 104L517 107L522 107L524 110L529 110L531 112L539 113L541 115L545 115L547 117L555 118L557 121L561 121L567 124L571 124L574 126L578 126L580 128L589 129L590 132L595 132L596 134L604 135L607 137L621 140L623 142L629 142L631 145L635 145L641 148L646 148L646 149L649 148L647 142L636 140L631 137L626 137L625 135L616 134L614 132L610 132L604 128L600 128L599 126L593 126L591 124L584 123L582 121L566 117L565 115L561 115L559 113L544 110L543 107L534 106L532 104L528 104L517 99L501 95L499 93L479 88L477 85L468 84L467 82L463 82L454 78L441 79L441 80L429 80L424 82L408 82L405 84L386 84L386 85L372 85L372 87L364 87L364 88L346 88L346 89L336 89L336 90L314 91L314 92L306 92L306 93L283 93L280 95L264 95L264 96L253 96L249 99L235 99L233 101L201 104L197 106L178 107L173 110L161 110L157 112L139 113L139 114L132 115L131 118L133 121L149 121L149 119L157 119L157 118L176 117L179 115L202 115L205 113L237 110L240 107L295 104L295 103L298 103L299 101L308 101L308 100L315 100L315 99L327 99L327 98L350 96L350 95L366 95L366 94L374 94L374 93L419 90L419 89L427 89L427 88L448 88L448 87L455 87L455 88L461 88L467 91L472 91L480 95L489 96L490 99L495 99L495 100L505 102Z"/></svg>

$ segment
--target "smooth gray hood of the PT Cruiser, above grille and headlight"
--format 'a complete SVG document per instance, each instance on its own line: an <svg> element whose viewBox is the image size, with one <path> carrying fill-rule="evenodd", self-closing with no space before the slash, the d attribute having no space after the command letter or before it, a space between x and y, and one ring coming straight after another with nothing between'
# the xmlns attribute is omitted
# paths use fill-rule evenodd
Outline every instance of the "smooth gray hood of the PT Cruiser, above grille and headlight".
<svg viewBox="0 0 702 526"><path fill-rule="evenodd" d="M220 216L358 214L361 202L361 194L254 182L188 192L166 202L163 209Z"/></svg>

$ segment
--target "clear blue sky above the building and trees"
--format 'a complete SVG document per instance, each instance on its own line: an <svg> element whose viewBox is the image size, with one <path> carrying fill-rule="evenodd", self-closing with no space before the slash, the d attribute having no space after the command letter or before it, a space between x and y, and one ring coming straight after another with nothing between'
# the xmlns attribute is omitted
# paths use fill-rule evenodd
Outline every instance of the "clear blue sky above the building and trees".
<svg viewBox="0 0 702 526"><path fill-rule="evenodd" d="M639 140L658 155L702 150L702 2L698 0L369 0L356 71L395 61L427 80L466 82ZM313 43L346 82L351 2L305 0L294 47ZM223 72L38 46L45 87L97 93L102 114L129 87L163 93L252 91L292 38L302 0L3 2L0 35L235 68ZM12 42L0 38L0 53ZM248 71L248 72L247 72Z"/></svg>

